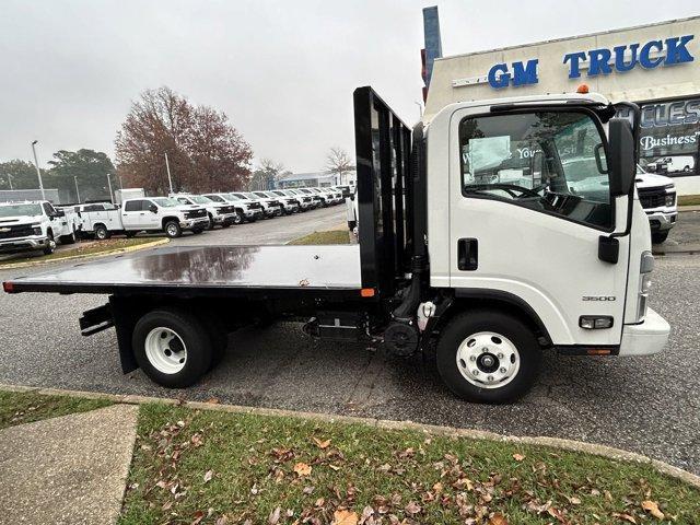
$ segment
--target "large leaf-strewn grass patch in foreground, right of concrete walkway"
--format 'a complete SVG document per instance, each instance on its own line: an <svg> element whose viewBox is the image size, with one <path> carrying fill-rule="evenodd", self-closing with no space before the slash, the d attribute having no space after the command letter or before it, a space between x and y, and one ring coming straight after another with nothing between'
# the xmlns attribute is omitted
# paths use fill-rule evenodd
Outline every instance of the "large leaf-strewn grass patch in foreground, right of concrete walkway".
<svg viewBox="0 0 700 525"><path fill-rule="evenodd" d="M645 465L144 405L119 523L689 524L699 511L698 489Z"/></svg>

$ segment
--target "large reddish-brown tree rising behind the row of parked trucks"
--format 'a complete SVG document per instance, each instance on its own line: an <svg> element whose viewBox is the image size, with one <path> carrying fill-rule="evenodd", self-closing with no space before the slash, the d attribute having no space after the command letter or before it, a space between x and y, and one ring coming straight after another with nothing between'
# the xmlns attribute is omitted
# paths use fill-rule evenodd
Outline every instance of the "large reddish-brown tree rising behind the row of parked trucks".
<svg viewBox="0 0 700 525"><path fill-rule="evenodd" d="M224 113L194 106L170 88L149 90L132 103L115 141L117 171L130 186L156 194L238 189L250 176L250 145Z"/></svg>

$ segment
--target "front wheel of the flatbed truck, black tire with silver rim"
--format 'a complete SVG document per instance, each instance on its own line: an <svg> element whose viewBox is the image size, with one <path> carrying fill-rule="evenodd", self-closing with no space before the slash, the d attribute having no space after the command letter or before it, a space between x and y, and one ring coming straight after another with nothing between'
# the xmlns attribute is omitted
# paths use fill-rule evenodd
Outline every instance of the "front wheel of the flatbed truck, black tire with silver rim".
<svg viewBox="0 0 700 525"><path fill-rule="evenodd" d="M500 404L520 398L533 386L540 360L533 331L520 318L497 310L456 315L438 341L440 376L468 401ZM490 380L502 386L489 384Z"/></svg>

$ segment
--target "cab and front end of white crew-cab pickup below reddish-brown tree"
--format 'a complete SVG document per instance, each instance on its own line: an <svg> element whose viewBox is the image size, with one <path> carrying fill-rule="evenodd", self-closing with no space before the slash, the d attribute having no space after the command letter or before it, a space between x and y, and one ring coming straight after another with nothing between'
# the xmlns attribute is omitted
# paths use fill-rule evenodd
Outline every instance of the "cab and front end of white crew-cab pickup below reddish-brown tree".
<svg viewBox="0 0 700 525"><path fill-rule="evenodd" d="M127 199L121 207L121 224L127 236L138 232L165 232L171 237L179 237L183 231L195 234L209 226L207 210L201 206L182 205L167 197Z"/></svg>

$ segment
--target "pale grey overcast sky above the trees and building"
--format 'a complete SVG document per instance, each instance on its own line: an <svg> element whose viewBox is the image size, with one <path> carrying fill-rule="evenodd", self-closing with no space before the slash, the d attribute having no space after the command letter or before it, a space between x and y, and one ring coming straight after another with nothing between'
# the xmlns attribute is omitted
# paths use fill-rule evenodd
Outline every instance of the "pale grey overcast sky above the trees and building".
<svg viewBox="0 0 700 525"><path fill-rule="evenodd" d="M0 0L0 162L57 150L114 154L130 104L167 85L226 113L295 173L354 156L352 92L372 85L419 118L422 8L443 55L700 14L698 0ZM574 8L575 7L575 8Z"/></svg>

